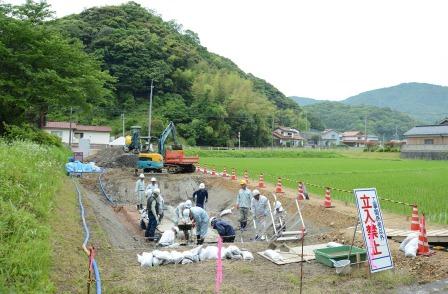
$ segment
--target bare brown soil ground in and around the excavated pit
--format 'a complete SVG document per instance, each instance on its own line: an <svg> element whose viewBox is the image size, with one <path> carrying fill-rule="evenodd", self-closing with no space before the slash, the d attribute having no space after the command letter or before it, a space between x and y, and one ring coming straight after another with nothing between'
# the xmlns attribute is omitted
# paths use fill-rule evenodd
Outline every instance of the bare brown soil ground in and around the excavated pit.
<svg viewBox="0 0 448 294"><path fill-rule="evenodd" d="M235 201L238 184L235 181L202 174L157 175L162 194L170 209L180 201L191 197L200 182L209 190L210 200L207 210L216 215L229 208ZM104 175L106 190L119 205L112 207L98 188L98 176L86 175L81 179L87 195L88 207L94 216L89 219L93 226L91 240L98 249L97 261L100 265L103 288L106 293L211 293L214 289L215 263L212 261L190 265L168 265L156 268L141 268L137 253L151 251L153 244L145 242L143 231L138 227L135 209L134 184L136 178L131 169L109 169ZM268 186L262 192L272 199ZM287 203L296 196L296 191L286 190L281 200ZM308 235L305 245L336 241L348 244L351 241L356 221L356 211L352 205L334 202L333 209L324 209L322 199L312 197L303 204L303 216ZM288 206L292 215L293 206ZM237 213L237 212L236 212ZM228 220L237 224L237 214ZM407 228L409 221L402 216L385 214L387 227ZM170 226L169 217L164 220L164 228ZM265 250L267 242L248 242L252 232L245 233L245 242L237 243L254 253L253 262L223 261L223 293L285 293L299 292L300 264L277 266L255 254ZM213 238L212 238L213 239ZM237 237L240 240L240 236ZM299 242L289 246L298 246ZM362 246L360 236L355 245ZM399 244L390 241L395 270L369 275L367 267L354 267L348 276L338 276L334 269L315 261L303 264L304 293L394 293L402 285L426 283L448 278L448 253L437 251L430 257L407 259L398 251Z"/></svg>

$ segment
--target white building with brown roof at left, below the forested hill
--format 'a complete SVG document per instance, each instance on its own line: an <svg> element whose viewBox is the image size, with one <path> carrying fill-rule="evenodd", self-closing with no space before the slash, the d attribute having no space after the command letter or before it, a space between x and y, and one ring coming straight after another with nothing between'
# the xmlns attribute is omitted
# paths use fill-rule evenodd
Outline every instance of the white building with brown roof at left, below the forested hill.
<svg viewBox="0 0 448 294"><path fill-rule="evenodd" d="M61 138L63 143L69 143L70 135L72 144L77 145L79 139L88 139L93 146L107 146L110 142L112 129L107 126L86 126L69 122L49 121L42 129ZM70 132L71 129L71 132Z"/></svg>

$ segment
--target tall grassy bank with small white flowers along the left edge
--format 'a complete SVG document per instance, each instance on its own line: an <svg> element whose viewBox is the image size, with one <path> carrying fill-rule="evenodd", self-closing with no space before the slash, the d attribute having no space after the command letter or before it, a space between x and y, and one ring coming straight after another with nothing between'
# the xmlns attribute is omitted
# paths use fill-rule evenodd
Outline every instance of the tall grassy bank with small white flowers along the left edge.
<svg viewBox="0 0 448 294"><path fill-rule="evenodd" d="M0 293L54 291L48 217L67 153L0 140Z"/></svg>

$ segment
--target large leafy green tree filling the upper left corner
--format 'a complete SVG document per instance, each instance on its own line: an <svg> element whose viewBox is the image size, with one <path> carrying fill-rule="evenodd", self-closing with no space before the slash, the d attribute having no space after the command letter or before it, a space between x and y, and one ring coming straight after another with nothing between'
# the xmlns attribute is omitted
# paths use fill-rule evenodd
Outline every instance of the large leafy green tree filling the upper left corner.
<svg viewBox="0 0 448 294"><path fill-rule="evenodd" d="M34 9L34 10L33 10ZM41 21L45 2L0 11L0 116L7 124L42 125L49 107L108 104L113 79L83 51Z"/></svg>

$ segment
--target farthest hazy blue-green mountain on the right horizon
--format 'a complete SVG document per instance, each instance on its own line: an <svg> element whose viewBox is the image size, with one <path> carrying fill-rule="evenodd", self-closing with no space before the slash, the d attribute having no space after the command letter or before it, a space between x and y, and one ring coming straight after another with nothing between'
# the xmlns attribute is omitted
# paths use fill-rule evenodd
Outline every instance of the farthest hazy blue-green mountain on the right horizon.
<svg viewBox="0 0 448 294"><path fill-rule="evenodd" d="M448 116L448 87L405 83L364 92L342 102L348 105L389 107L425 123L435 123Z"/></svg>

